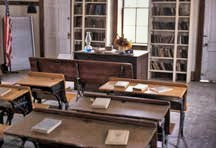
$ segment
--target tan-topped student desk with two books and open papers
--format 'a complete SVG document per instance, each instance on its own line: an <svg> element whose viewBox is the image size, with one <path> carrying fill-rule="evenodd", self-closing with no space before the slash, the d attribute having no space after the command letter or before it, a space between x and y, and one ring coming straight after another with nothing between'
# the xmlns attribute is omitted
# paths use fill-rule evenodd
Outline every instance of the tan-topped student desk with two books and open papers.
<svg viewBox="0 0 216 148"><path fill-rule="evenodd" d="M126 89L116 88L114 87L114 85L117 81L129 81L130 85ZM167 86L167 87L171 87L172 90L163 93L133 91L131 86L135 86L138 83L148 84L149 87ZM107 92L107 93L120 93L129 96L148 97L148 98L170 101L171 109L180 111L178 143L180 138L184 136L183 134L184 118L185 118L184 111L186 110L186 103L187 103L186 102L187 89L188 89L187 85L182 83L146 81L146 80L136 80L136 79L125 79L125 78L110 78L110 80L107 83L105 83L99 88L100 91Z"/></svg>

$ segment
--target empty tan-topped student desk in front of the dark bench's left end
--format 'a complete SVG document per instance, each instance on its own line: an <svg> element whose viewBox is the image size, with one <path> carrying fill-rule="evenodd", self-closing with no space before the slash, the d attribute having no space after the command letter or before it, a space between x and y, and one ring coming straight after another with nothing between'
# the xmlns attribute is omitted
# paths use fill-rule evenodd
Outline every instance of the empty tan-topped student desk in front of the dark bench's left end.
<svg viewBox="0 0 216 148"><path fill-rule="evenodd" d="M17 82L32 89L34 99L56 99L59 108L62 109L63 103L68 108L68 101L65 94L64 75L44 72L29 72L28 75ZM49 97L47 97L49 96Z"/></svg>

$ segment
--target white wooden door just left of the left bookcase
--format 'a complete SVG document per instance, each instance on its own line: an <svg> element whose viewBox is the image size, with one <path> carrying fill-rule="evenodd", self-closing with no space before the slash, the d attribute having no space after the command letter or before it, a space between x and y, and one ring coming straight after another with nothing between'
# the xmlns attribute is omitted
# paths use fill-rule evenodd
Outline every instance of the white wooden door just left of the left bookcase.
<svg viewBox="0 0 216 148"><path fill-rule="evenodd" d="M44 0L45 56L71 53L70 0Z"/></svg>

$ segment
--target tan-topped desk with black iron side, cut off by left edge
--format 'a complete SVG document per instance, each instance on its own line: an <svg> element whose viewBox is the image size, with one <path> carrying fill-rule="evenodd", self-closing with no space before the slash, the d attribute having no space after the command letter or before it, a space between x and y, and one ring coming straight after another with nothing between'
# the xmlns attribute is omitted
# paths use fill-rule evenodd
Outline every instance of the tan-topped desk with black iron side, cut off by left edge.
<svg viewBox="0 0 216 148"><path fill-rule="evenodd" d="M32 111L31 90L28 87L3 85L0 87L10 88L11 91L0 96L0 123L4 123L3 117L7 115L7 124L11 124L14 113L24 116Z"/></svg>

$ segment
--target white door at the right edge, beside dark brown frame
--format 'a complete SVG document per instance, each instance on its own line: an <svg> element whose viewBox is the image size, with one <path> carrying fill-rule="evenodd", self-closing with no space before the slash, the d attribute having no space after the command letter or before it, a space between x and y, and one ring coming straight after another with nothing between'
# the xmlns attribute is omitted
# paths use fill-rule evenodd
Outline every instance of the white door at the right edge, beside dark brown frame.
<svg viewBox="0 0 216 148"><path fill-rule="evenodd" d="M216 81L216 0L205 0L201 80Z"/></svg>

